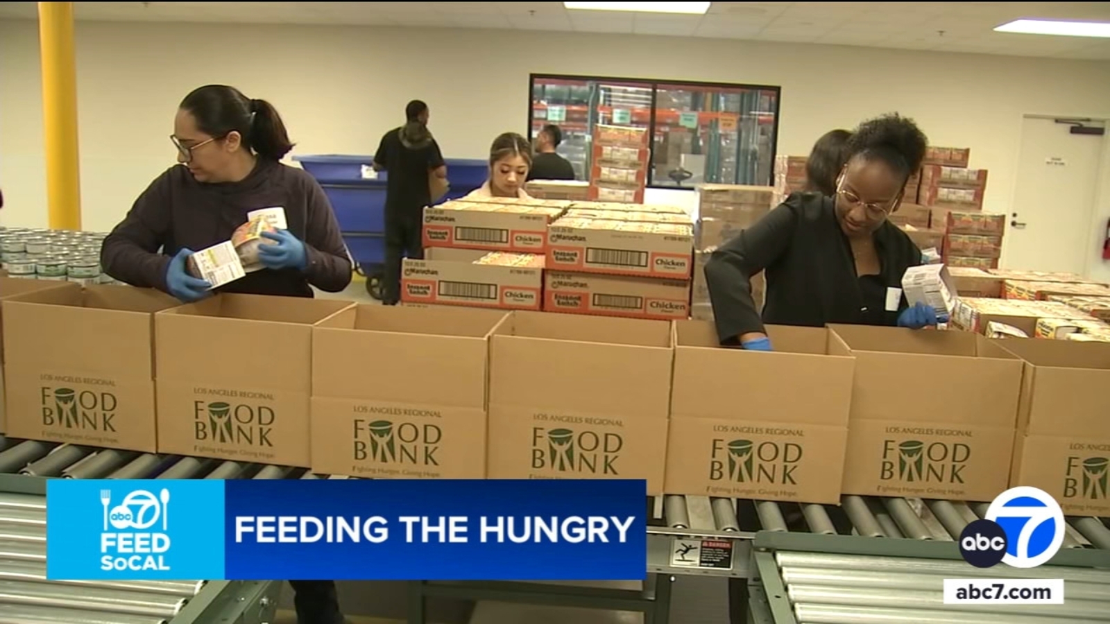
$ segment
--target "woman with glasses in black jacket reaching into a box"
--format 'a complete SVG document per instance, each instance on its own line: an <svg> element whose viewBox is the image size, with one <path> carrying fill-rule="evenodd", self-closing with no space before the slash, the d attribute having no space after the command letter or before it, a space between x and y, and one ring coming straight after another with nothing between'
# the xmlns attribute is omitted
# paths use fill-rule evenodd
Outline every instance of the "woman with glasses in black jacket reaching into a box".
<svg viewBox="0 0 1110 624"><path fill-rule="evenodd" d="M901 293L902 273L921 264L921 251L887 220L926 147L909 119L866 121L848 139L831 197L794 193L718 248L705 276L722 344L770 351L764 323L936 325L932 308L909 306ZM760 271L767 280L761 315L750 285Z"/></svg>

